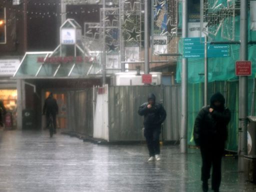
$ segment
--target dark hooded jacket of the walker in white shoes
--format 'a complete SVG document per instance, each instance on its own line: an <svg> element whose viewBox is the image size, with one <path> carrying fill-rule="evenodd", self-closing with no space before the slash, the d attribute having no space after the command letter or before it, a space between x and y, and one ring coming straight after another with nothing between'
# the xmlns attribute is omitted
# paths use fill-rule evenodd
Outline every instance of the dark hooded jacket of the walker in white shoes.
<svg viewBox="0 0 256 192"><path fill-rule="evenodd" d="M151 108L147 108L148 102L141 104L138 108L138 114L144 115L145 128L160 128L166 117L166 112L160 103L155 103L155 95L153 93L148 95L148 99L153 99L154 104L152 104Z"/></svg>

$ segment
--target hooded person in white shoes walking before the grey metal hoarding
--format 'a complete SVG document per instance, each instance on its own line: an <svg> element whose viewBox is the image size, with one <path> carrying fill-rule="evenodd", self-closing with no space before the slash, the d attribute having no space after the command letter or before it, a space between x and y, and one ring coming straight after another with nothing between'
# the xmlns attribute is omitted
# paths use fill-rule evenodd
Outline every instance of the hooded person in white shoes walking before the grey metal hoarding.
<svg viewBox="0 0 256 192"><path fill-rule="evenodd" d="M139 106L138 114L144 115L144 136L149 151L148 161L160 160L159 135L166 112L160 103L155 102L155 95L150 93L147 102Z"/></svg>

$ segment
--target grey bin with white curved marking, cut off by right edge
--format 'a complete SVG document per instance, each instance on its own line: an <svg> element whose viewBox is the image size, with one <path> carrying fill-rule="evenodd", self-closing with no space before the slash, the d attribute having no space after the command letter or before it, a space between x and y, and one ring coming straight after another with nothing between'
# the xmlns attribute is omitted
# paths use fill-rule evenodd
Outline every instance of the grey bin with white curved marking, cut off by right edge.
<svg viewBox="0 0 256 192"><path fill-rule="evenodd" d="M247 154L256 155L256 116L248 116Z"/></svg>

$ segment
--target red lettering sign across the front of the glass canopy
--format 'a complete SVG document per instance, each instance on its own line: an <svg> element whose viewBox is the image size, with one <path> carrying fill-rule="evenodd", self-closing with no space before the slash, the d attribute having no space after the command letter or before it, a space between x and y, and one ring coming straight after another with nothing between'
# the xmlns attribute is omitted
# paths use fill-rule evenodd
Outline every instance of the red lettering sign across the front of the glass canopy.
<svg viewBox="0 0 256 192"><path fill-rule="evenodd" d="M82 56L51 56L51 57L37 57L37 62L43 63L52 63L52 64L59 64L59 63L70 63L70 62L95 62L96 57L82 57Z"/></svg>

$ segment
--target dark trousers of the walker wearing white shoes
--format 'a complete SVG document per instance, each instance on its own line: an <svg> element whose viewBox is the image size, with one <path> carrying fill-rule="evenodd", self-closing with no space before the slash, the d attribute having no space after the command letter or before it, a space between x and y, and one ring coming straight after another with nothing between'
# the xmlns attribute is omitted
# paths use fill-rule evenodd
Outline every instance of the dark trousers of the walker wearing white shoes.
<svg viewBox="0 0 256 192"><path fill-rule="evenodd" d="M161 130L159 128L145 128L144 136L149 152L149 156L160 154L159 135Z"/></svg>

